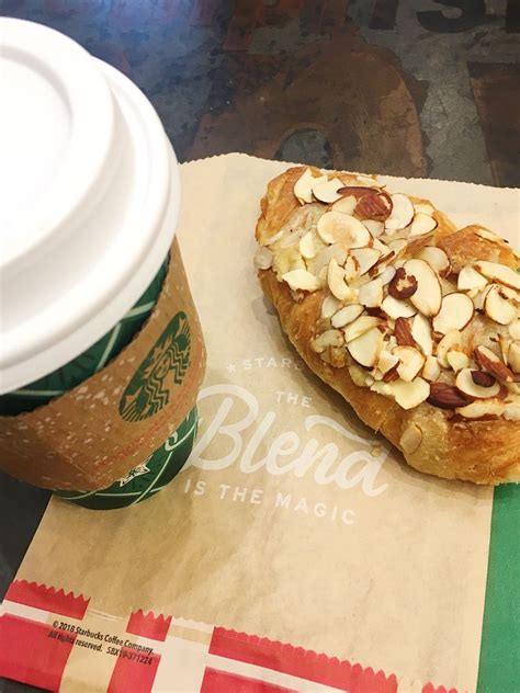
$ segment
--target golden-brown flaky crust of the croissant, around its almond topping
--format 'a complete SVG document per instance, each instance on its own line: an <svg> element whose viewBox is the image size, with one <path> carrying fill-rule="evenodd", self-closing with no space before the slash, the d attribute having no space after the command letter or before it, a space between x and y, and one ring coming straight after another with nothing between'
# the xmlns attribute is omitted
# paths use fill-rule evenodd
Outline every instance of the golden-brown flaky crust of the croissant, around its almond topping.
<svg viewBox="0 0 520 693"><path fill-rule="evenodd" d="M292 168L269 183L256 228L256 237L261 245L269 242L299 208L293 189L305 170L305 167ZM321 174L317 169L310 170L315 175ZM334 174L340 179L343 175L351 178L351 174L342 172ZM410 200L414 203L431 204L414 197ZM441 212L436 211L433 217L438 221L433 234L434 243L444 249L457 271L472 260L489 260L516 268L517 261L511 250L478 236L475 231L479 227L457 231ZM411 248L408 246L407 255L431 241L431 235L426 240L418 237ZM321 318L326 291L305 292L295 297L290 286L280 281L272 269L259 270L258 274L264 295L279 314L283 331L308 367L337 390L362 421L402 450L411 467L438 477L475 484L496 485L520 480L518 421L502 418L465 420L426 401L415 408L403 409L389 397L355 385L347 366L334 367L310 346ZM422 439L417 450L405 452L400 441L412 425L420 429Z"/></svg>

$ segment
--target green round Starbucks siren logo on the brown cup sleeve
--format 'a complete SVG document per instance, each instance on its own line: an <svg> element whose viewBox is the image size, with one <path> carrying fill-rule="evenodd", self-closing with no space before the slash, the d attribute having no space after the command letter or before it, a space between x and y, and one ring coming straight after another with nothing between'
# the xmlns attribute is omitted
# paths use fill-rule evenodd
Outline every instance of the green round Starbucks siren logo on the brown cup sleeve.
<svg viewBox="0 0 520 693"><path fill-rule="evenodd" d="M180 385L190 365L190 326L178 313L157 340L120 401L125 421L142 421L160 411L170 399L170 385Z"/></svg>

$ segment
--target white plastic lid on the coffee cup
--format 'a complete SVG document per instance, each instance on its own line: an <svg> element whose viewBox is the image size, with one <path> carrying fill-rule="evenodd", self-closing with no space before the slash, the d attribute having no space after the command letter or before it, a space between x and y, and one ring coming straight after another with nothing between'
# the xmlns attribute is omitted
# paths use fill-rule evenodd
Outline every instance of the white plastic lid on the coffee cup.
<svg viewBox="0 0 520 693"><path fill-rule="evenodd" d="M180 202L146 96L52 29L0 18L0 394L65 365L154 279Z"/></svg>

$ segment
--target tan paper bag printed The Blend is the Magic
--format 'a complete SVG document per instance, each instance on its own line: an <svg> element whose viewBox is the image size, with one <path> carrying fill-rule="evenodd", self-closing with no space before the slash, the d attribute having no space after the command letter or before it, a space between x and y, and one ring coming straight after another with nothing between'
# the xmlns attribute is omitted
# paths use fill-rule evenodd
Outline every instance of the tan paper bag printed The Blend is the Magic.
<svg viewBox="0 0 520 693"><path fill-rule="evenodd" d="M362 685L353 667L358 678L332 689L317 683L332 675L281 682L265 673L274 646L255 658L244 643L267 641L226 636L263 667L240 675L273 685L373 693L421 691L432 681L474 691L491 489L408 468L295 356L252 269L259 200L285 167L244 155L182 167L180 241L208 351L197 443L185 469L146 505L92 513L53 501L18 578L90 599L91 629L103 633L135 633L128 615L139 609L163 614L147 690L199 690L203 675L215 684L203 690L234 690L218 689L218 647L204 646L208 663L194 654L218 639L218 628L202 625L212 624L386 677L381 688ZM383 180L430 197L459 226L479 221L513 240L512 191ZM106 690L113 658L71 647L63 690L87 690L86 671L88 690ZM343 667L302 657L330 671Z"/></svg>

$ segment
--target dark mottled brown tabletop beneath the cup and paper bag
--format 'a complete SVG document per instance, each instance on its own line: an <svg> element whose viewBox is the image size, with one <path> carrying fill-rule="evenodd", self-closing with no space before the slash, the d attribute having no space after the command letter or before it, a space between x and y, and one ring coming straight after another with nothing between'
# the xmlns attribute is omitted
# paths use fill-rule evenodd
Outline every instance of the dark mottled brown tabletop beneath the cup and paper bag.
<svg viewBox="0 0 520 693"><path fill-rule="evenodd" d="M0 15L65 32L131 77L180 161L246 151L520 184L516 0L0 0ZM0 599L47 501L0 474Z"/></svg>

